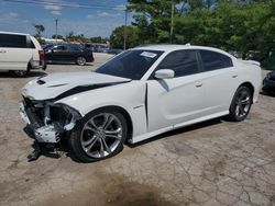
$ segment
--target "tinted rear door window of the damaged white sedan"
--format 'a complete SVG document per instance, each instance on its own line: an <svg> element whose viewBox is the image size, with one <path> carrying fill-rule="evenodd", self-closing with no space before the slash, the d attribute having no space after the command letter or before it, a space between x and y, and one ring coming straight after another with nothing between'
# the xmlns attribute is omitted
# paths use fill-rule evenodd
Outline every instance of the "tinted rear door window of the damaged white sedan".
<svg viewBox="0 0 275 206"><path fill-rule="evenodd" d="M216 52L200 50L200 57L205 67L205 71L233 67L230 57Z"/></svg>

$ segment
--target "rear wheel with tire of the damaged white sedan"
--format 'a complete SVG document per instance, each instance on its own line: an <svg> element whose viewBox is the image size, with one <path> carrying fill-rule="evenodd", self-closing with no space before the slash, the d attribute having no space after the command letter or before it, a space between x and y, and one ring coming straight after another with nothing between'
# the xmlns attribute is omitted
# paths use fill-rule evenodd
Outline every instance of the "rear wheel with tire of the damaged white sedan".
<svg viewBox="0 0 275 206"><path fill-rule="evenodd" d="M233 122L241 122L246 118L252 105L252 92L245 87L241 85L235 91L233 100L229 108L229 117Z"/></svg>

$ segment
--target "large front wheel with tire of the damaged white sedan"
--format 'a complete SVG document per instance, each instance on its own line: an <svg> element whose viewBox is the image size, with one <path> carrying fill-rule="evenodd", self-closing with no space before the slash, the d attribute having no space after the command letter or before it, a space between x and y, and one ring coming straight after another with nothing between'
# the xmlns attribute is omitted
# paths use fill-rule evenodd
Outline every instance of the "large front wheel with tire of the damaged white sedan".
<svg viewBox="0 0 275 206"><path fill-rule="evenodd" d="M114 110L91 112L80 122L78 130L69 138L75 156L84 162L110 158L123 149L127 122Z"/></svg>

